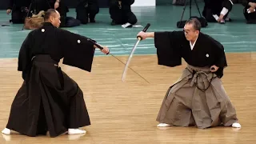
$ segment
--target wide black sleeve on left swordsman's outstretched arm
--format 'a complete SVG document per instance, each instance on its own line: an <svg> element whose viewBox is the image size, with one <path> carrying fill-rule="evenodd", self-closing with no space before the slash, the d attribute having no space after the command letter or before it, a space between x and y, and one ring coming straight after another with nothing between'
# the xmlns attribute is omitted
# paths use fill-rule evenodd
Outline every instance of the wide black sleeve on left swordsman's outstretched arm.
<svg viewBox="0 0 256 144"><path fill-rule="evenodd" d="M94 45L87 38L71 33L67 30L58 30L58 37L63 50L63 64L91 71L94 59Z"/></svg>

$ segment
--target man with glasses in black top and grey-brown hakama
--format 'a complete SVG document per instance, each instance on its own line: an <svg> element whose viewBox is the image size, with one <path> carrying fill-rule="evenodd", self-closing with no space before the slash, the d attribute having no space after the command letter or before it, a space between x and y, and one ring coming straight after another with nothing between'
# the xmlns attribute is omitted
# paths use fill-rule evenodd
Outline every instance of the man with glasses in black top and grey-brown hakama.
<svg viewBox="0 0 256 144"><path fill-rule="evenodd" d="M158 113L159 127L241 127L222 86L227 66L224 48L200 29L200 22L192 18L183 31L138 33L142 39L154 38L158 65L180 66L182 58L187 63L182 77L166 92Z"/></svg>

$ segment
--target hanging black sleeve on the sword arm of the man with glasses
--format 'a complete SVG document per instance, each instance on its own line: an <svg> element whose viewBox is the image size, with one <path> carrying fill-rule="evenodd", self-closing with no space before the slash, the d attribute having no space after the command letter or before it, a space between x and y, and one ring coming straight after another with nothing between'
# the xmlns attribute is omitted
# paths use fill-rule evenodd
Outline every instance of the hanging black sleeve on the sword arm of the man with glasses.
<svg viewBox="0 0 256 144"><path fill-rule="evenodd" d="M170 67L182 65L182 54L177 44L177 40L181 36L178 31L154 33L154 46L157 48L158 65Z"/></svg>

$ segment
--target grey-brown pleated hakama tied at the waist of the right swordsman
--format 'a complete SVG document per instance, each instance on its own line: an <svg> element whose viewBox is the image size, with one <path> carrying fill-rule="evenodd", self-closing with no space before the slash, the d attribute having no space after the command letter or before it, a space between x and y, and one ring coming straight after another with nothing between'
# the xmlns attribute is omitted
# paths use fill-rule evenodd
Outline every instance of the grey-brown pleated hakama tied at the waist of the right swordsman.
<svg viewBox="0 0 256 144"><path fill-rule="evenodd" d="M166 92L157 121L174 126L232 126L236 110L222 81L209 67L188 65L182 77Z"/></svg>

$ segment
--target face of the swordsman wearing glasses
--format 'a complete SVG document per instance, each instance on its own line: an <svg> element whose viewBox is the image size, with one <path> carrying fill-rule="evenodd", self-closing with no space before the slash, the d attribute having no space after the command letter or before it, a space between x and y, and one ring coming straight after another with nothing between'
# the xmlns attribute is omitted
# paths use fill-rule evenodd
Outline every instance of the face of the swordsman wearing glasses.
<svg viewBox="0 0 256 144"><path fill-rule="evenodd" d="M193 24L189 23L184 26L183 31L188 41L195 40L199 34L199 30L194 30Z"/></svg>

